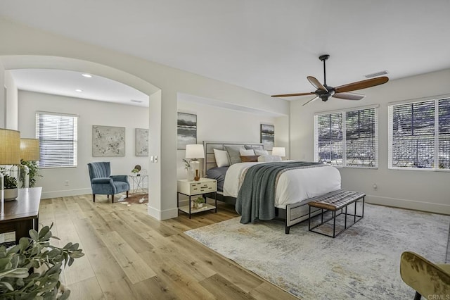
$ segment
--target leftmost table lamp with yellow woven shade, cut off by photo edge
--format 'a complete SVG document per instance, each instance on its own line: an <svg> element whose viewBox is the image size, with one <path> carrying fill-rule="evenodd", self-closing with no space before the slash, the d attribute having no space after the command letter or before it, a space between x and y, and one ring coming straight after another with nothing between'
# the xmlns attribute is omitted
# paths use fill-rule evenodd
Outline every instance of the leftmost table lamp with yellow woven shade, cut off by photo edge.
<svg viewBox="0 0 450 300"><path fill-rule="evenodd" d="M20 164L20 132L0 128L0 165ZM0 172L1 180L1 215L5 213L5 179Z"/></svg>

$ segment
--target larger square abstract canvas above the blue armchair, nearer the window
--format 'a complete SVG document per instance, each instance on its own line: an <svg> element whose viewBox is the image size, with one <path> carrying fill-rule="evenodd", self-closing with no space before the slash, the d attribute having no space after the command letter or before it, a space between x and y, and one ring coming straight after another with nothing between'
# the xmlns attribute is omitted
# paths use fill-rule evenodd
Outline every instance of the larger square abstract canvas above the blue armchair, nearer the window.
<svg viewBox="0 0 450 300"><path fill-rule="evenodd" d="M92 125L92 156L125 156L125 127Z"/></svg>

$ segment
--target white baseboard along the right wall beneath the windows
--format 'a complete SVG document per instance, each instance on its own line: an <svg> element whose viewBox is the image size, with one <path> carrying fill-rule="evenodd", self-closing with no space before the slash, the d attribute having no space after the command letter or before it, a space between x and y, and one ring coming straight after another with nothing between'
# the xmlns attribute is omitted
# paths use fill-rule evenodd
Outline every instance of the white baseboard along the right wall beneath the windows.
<svg viewBox="0 0 450 300"><path fill-rule="evenodd" d="M413 209L416 211L427 211L429 213L440 213L444 215L450 215L449 204L437 204L407 199L380 197L369 194L366 195L366 202L369 204L380 204L384 206L394 206L399 208Z"/></svg>

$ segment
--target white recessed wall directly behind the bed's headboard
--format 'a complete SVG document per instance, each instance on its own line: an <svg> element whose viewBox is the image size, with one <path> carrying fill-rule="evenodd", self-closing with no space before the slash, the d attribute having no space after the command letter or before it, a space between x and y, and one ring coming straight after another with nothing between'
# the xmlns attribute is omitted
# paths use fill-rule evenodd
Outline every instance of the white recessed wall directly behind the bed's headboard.
<svg viewBox="0 0 450 300"><path fill-rule="evenodd" d="M257 142L260 141L260 125L275 125L276 118L257 113L247 113L229 108L178 101L178 111L197 115L197 144L203 141L222 142ZM275 136L278 128L275 127ZM280 135L282 132L280 130ZM176 151L176 177L186 178L184 163L181 161L186 155L185 150ZM203 161L200 161L202 169Z"/></svg>

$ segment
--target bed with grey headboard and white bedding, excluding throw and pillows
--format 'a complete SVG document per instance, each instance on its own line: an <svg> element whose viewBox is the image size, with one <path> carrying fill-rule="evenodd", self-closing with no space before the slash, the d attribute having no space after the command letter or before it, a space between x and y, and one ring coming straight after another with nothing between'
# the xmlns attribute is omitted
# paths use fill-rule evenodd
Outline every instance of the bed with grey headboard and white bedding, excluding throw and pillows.
<svg viewBox="0 0 450 300"><path fill-rule="evenodd" d="M229 167L217 167L214 149L224 151L226 146L255 147L262 149L261 143L252 142L203 142L205 160L203 172L207 177L217 180L217 200L236 205L236 198L240 191L246 172L257 162L233 163ZM293 168L282 172L276 183L274 201L275 218L285 222L285 233L290 227L307 220L308 202L316 197L340 189L341 179L339 171L330 165L312 165L311 167ZM237 207L237 206L236 206ZM242 220L242 219L241 219ZM246 223L246 222L244 222Z"/></svg>

